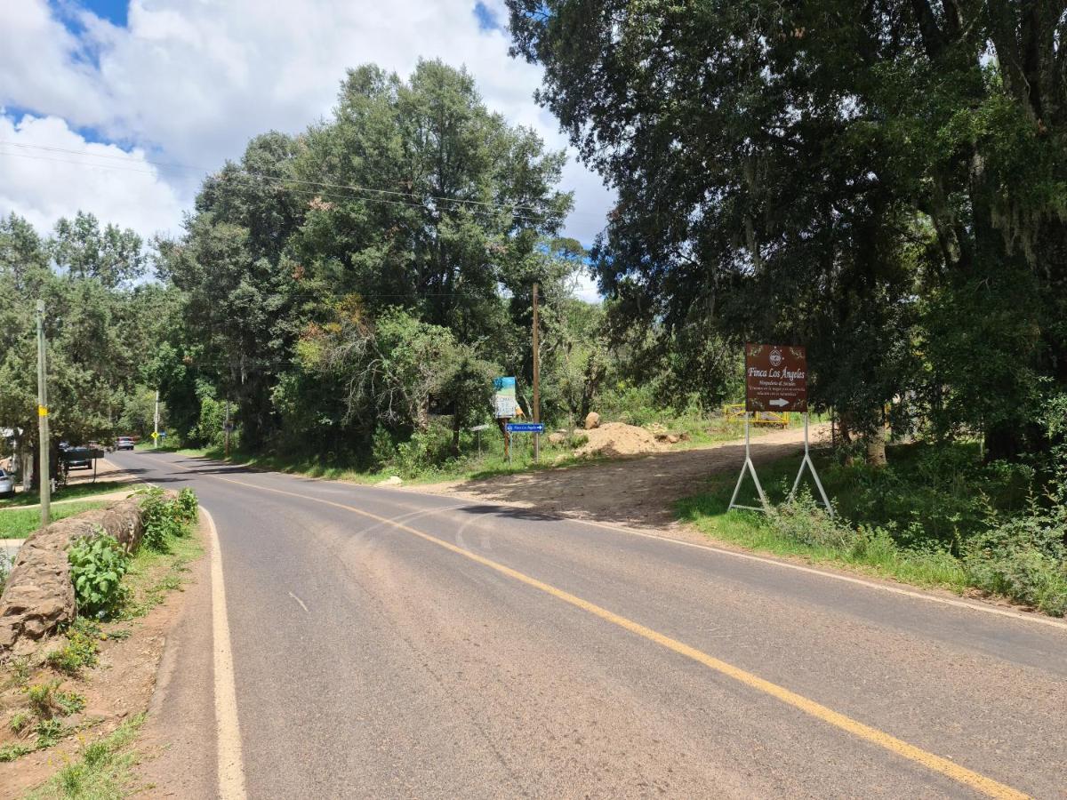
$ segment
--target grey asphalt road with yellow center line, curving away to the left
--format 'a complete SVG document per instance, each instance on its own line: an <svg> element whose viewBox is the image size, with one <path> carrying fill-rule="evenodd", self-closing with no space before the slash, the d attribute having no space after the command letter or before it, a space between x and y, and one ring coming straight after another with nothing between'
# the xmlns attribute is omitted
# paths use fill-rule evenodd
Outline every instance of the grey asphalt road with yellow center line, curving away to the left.
<svg viewBox="0 0 1067 800"><path fill-rule="evenodd" d="M1067 628L529 510L113 458L217 524L250 797L1067 797ZM176 665L174 725L208 724L208 659ZM214 739L175 736L200 794Z"/></svg>

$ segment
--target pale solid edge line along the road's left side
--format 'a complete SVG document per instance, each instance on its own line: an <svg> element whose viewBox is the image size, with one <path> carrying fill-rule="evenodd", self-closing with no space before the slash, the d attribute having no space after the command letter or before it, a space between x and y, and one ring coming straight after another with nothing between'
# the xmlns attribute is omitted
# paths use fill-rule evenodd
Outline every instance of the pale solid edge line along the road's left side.
<svg viewBox="0 0 1067 800"><path fill-rule="evenodd" d="M241 757L241 732L237 723L237 689L234 683L234 657L229 646L229 622L226 619L226 588L222 582L222 551L219 531L211 514L201 506L211 539L211 633L214 642L214 721L218 740L217 775L219 797L244 800L244 762Z"/></svg>

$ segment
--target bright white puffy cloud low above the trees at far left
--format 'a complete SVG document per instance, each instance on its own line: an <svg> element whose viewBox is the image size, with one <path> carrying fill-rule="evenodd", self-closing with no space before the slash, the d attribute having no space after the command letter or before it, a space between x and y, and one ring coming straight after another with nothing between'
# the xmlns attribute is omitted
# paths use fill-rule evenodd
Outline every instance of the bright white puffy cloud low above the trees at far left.
<svg viewBox="0 0 1067 800"><path fill-rule="evenodd" d="M46 233L80 209L146 238L178 231L182 204L141 150L86 142L55 116L0 115L0 215Z"/></svg>

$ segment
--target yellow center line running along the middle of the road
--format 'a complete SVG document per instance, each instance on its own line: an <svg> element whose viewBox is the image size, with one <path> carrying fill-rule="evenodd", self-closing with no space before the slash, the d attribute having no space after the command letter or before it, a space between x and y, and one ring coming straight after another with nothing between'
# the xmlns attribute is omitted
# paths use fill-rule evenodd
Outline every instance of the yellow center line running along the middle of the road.
<svg viewBox="0 0 1067 800"><path fill-rule="evenodd" d="M189 469L189 468L182 467L182 469ZM778 684L773 684L769 681L765 681L764 678L760 677L759 675L743 670L739 667L734 667L733 665L727 663L726 661L719 660L718 658L715 658L714 656L711 656L704 653L703 651L697 650L696 647L689 646L684 642L680 642L676 639L671 639L669 636L665 636L664 634L660 634L657 630L653 630L652 628L646 627L644 625L641 625L639 622L634 622L631 619L622 617L621 614L617 614L614 611L609 611L606 608L602 608L601 606L598 606L594 603L590 603L587 599L583 599L582 597L571 594L570 592L563 591L562 589L557 589L556 587L550 583L545 583L542 580L538 580L537 578L532 578L529 575L519 572L517 570L512 570L510 566L505 566L504 564L488 559L484 556L479 556L477 553L472 553L471 550L464 549L463 547L458 547L457 545L450 542L446 542L443 539L437 539L436 537L431 535L429 533L424 533L423 531L416 530L415 528L409 527L402 523L389 519L388 517L379 516L378 514L372 514L369 511L357 509L354 506L346 506L345 503L341 502L334 502L333 500L324 500L319 497L312 497L309 495L298 494L297 492L286 492L285 490L282 489L259 486L256 485L255 483L246 483L244 481L238 481L232 478L221 478L219 476L206 476L206 477L216 478L218 480L225 481L226 483L235 483L239 486L257 489L262 492L273 492L280 495L288 495L289 497L298 497L304 500L312 500L313 502L321 502L325 506L333 506L335 508L343 509L345 511L350 511L361 516L365 516L369 519L373 519L378 523L389 525L394 528L416 535L419 539L423 539L427 542L431 542L437 545L439 547L443 547L444 549L449 550L450 553L463 556L464 558L467 558L476 563L479 563L483 566L488 566L491 570L495 570L501 575L507 575L509 578L513 578L514 580L517 580L521 583L525 583L526 586L532 587L534 589L538 589L544 592L545 594L552 595L553 597L562 601L563 603L574 606L575 608L580 608L583 611L587 611L593 614L594 617L599 617L605 622L610 622L614 625L618 625L619 627L628 630L632 634L636 634L637 636L648 639L651 642L655 642L656 644L659 644L660 646L664 646L667 650L673 651L679 655L691 658L694 661L702 663L708 669L712 669L721 675L731 677L734 681L744 684L745 686L755 689L757 691L763 692L764 694L769 694L776 700L779 700L782 703L785 703L786 705L791 705L794 708L797 708L803 711L805 714L814 717L815 719L822 720L823 722L826 722L829 725L833 725L834 727L845 731L846 733L849 733L859 739L862 739L872 745L876 745L880 748L883 748L885 750L895 753L896 755L899 755L911 762L921 764L922 766L926 767L927 769L934 772L938 772L946 778L951 778L952 780L957 781L964 784L965 786L970 786L971 788L976 789L977 791L981 791L982 794L988 797L1004 798L1004 799L1007 798L1022 799L1029 797L1029 795L1025 795L1024 793L1019 791L1018 789L1014 789L1010 786L994 781L991 778L987 778L986 775L980 772L975 772L974 770L968 769L967 767L961 767L960 765L956 764L955 762L949 758L943 758L940 755L935 755L934 753L923 750L922 748L918 748L914 745L909 745L903 739L898 739L895 736L891 736L885 731L879 731L877 727L872 727L871 725L866 725L862 722L859 722L858 720L855 720L851 717L847 717L844 714L840 714L839 711L835 711L832 708L828 708L827 706L821 703L816 703L813 700L809 700L802 694L797 694L795 691L791 691L790 689L786 689L783 686L779 686Z"/></svg>

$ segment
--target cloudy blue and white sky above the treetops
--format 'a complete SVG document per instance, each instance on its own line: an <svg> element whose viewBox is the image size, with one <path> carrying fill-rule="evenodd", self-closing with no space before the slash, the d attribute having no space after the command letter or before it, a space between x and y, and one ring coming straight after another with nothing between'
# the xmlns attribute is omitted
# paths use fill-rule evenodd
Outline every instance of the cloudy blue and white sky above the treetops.
<svg viewBox="0 0 1067 800"><path fill-rule="evenodd" d="M207 172L328 116L368 62L465 65L491 109L564 148L506 21L504 0L0 0L0 214L47 233L81 209L176 236ZM589 245L614 195L569 156L564 233Z"/></svg>

